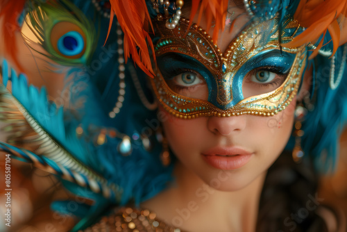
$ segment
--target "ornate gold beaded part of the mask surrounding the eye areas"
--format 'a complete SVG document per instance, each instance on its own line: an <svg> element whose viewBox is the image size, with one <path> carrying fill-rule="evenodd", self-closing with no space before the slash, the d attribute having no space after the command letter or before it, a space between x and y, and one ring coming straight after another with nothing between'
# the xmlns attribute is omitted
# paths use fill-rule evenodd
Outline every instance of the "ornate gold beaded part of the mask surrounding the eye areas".
<svg viewBox="0 0 347 232"><path fill-rule="evenodd" d="M214 102L211 102L213 99L210 95L208 101L189 98L172 91L157 70L157 77L151 80L155 94L162 106L176 117L191 119L201 116L229 117L243 114L272 116L284 110L298 92L305 69L306 50L305 47L280 48L276 19L248 26L230 43L224 53L221 53L203 28L196 24L188 28L188 19L181 19L180 24L172 30L165 28L163 21L164 17L159 16L154 23L158 30L157 35L161 35L155 46L158 59L166 53L189 56L208 69L214 78L212 81L217 85L217 90L209 90L210 94L217 92L217 99ZM299 29L300 25L295 20L288 19L285 30L282 31L282 42L291 41ZM232 90L235 88L242 92L242 83L239 85L233 81L239 70L244 69L245 63L257 55L262 56L262 53L276 50L278 53L295 55L295 58L290 60L293 65L285 82L276 90L246 99L243 99L242 94L232 96Z"/></svg>

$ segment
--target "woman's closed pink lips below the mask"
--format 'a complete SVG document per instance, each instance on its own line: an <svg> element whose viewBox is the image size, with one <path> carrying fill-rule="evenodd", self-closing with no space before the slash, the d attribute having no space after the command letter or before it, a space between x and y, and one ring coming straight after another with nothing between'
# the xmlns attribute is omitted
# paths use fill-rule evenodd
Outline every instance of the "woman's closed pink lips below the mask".
<svg viewBox="0 0 347 232"><path fill-rule="evenodd" d="M253 154L240 147L214 147L204 151L202 155L212 167L232 170L246 165Z"/></svg>

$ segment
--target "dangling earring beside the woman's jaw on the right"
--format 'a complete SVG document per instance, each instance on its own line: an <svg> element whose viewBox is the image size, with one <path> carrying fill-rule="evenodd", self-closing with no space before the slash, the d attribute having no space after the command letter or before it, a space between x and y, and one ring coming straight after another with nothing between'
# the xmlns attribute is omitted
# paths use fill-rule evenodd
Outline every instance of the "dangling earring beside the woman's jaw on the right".
<svg viewBox="0 0 347 232"><path fill-rule="evenodd" d="M301 137L305 134L305 132L301 129L301 122L303 122L305 115L307 114L307 109L302 105L296 106L295 109L295 120L294 120L294 138L295 138L295 146L293 149L293 160L296 163L300 163L301 159L305 155L303 149L301 148Z"/></svg>

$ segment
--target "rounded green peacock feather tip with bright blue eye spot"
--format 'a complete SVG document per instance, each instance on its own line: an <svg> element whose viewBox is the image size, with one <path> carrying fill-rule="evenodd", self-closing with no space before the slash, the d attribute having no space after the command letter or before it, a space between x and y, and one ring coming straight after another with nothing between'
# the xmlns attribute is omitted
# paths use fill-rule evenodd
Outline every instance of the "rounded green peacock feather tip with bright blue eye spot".
<svg viewBox="0 0 347 232"><path fill-rule="evenodd" d="M26 24L35 40L54 63L64 66L87 65L96 47L94 24L83 12L67 0L48 0L41 3L33 0L28 6ZM24 38L26 36L24 35Z"/></svg>

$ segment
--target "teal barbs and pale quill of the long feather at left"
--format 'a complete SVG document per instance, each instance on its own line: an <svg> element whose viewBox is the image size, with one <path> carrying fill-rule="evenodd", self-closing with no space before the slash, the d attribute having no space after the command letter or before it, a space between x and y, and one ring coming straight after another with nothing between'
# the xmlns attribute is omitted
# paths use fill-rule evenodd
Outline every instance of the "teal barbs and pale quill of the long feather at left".
<svg viewBox="0 0 347 232"><path fill-rule="evenodd" d="M5 85L0 85L0 103L2 104L0 119L10 122L9 126L13 128L17 124L25 125L26 130L22 132L17 130L15 131L16 135L12 134L12 137L17 137L18 140L24 142L24 147L32 147L35 151L31 153L24 149L23 152L26 155L23 155L24 158L27 160L32 158L35 163L35 158L41 157L44 163L48 163L56 169L64 167L62 170L71 172L76 181L80 180L79 184L82 185L83 179L92 184L97 181L101 184L101 189L105 190L103 193L108 195L109 190L111 190L111 192L115 192L115 199L112 201L119 201L121 190L117 185L108 183L103 176L92 171L72 155L75 153L79 154L80 157L81 154L87 156L88 149L86 144L82 144L76 138L76 132L74 135L68 135L65 131L62 108L57 109L55 105L48 103L44 89L39 91L33 86L28 87L24 75L10 76L9 79L12 82L12 94ZM54 138L51 136L53 134L55 135ZM6 146L4 143L2 145ZM96 187L94 189L98 189L96 185L98 184L93 184Z"/></svg>

